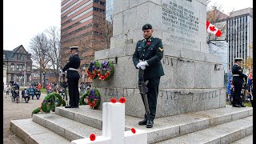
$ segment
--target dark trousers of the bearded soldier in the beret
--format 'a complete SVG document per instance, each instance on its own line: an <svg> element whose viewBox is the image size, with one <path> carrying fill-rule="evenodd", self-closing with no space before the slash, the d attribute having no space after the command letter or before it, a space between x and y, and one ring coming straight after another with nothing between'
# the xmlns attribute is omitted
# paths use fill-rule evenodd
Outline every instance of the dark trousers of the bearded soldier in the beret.
<svg viewBox="0 0 256 144"><path fill-rule="evenodd" d="M144 98L142 96L142 101L145 106L144 118L146 120L154 121L156 110L157 110L160 77L145 79L144 81L146 82L146 80L149 80L149 83L147 84L147 88L149 89L147 93L147 99L148 99L149 108L150 108L150 119L147 119L146 117L146 106L145 106ZM138 84L140 84L141 82L142 82L142 78L138 78Z"/></svg>

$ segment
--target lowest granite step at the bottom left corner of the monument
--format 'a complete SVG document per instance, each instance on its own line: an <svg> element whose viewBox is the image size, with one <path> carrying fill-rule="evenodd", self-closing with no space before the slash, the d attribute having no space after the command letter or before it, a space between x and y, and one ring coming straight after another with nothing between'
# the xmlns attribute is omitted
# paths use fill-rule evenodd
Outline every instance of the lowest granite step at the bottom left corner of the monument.
<svg viewBox="0 0 256 144"><path fill-rule="evenodd" d="M32 118L10 121L10 130L30 144L70 144L70 141L32 121Z"/></svg>

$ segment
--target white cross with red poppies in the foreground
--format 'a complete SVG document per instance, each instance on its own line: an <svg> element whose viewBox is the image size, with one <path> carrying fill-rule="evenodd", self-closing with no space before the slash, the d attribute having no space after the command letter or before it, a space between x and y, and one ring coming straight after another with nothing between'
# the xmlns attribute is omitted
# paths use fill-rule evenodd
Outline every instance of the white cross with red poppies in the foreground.
<svg viewBox="0 0 256 144"><path fill-rule="evenodd" d="M142 130L125 131L125 104L104 102L102 108L102 136L97 136L94 141L90 138L74 140L72 144L146 144L147 134Z"/></svg>

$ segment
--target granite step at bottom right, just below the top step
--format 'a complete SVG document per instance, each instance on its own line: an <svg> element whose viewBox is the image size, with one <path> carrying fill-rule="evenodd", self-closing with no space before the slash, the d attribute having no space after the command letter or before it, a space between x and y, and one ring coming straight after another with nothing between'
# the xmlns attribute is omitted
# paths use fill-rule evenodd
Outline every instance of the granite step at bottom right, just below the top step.
<svg viewBox="0 0 256 144"><path fill-rule="evenodd" d="M199 130L194 133L185 134L177 138L171 138L157 144L184 143L218 143L226 144L235 142L253 133L253 116L226 122L218 126L212 126L205 130Z"/></svg>

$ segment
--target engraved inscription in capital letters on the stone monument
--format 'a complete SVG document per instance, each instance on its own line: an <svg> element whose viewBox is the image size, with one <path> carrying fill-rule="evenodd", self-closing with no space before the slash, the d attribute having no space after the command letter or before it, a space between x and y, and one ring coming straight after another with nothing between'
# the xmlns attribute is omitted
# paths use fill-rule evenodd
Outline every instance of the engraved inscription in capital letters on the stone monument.
<svg viewBox="0 0 256 144"><path fill-rule="evenodd" d="M195 36L198 35L198 15L194 14L192 1L165 0L162 1L162 24L170 33L172 42L182 42L193 45ZM190 4L185 4L190 3Z"/></svg>

